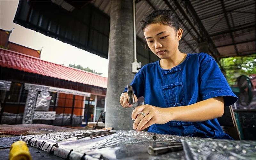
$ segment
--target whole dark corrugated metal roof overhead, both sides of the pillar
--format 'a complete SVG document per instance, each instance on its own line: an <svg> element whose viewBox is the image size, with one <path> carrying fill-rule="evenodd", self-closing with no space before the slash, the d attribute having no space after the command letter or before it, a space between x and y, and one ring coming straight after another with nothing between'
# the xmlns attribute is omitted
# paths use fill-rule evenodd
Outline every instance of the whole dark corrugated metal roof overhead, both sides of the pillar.
<svg viewBox="0 0 256 160"><path fill-rule="evenodd" d="M92 16L92 22L90 23L90 26L87 26L89 25L87 24L89 23L87 20L89 14L86 14L87 12L86 10L84 10L84 8L88 7L87 3L82 3L86 6L78 10L77 8L73 9L72 7L70 7L70 5L72 4L68 1L61 0L52 2L60 5L62 8L65 8L67 11L69 11L69 13L72 16L79 17L79 14L83 15L82 19L85 21L83 21L82 23L84 26L80 29L84 29L84 31L82 30L83 33L78 32L80 30L79 27L77 27L79 26L79 24L75 23L76 20L73 20L74 23L70 22L70 26L67 26L69 28L74 26L74 30L76 31L74 31L75 35L73 36L69 32L67 34L64 34L65 31L61 29L58 30L58 33L55 33L57 31L57 24L55 24L55 27L54 25L51 26L52 28L50 27L49 32L47 30L47 22L42 22L42 24L39 24L39 27L41 27L40 25L42 25L42 27L44 27L43 29L46 28L47 32L42 32L42 30L40 30L40 32L44 33L47 36L56 36L55 34L62 35L64 39L62 38L60 40L78 46L82 49L91 49L91 51L97 50L95 54L98 54L106 58L108 51L106 48L108 47L108 44L106 44L108 43L108 29L106 30L106 26L109 25L109 22L107 22L106 20L93 21L97 18L99 19L100 17L102 17L102 15L98 15L98 12L96 12L95 14L97 14L97 18ZM91 1L91 3L96 8L99 8L101 11L106 13L106 15L110 15L111 1L99 0ZM192 8L190 8L191 6ZM223 56L227 57L235 55L255 54L255 6L256 1L136 1L136 34L137 37L139 38L139 40L137 39L137 41L140 41L142 45L145 44L145 38L140 26L140 20L143 19L144 16L153 12L154 8L172 8L178 14L180 28L184 30L183 38L180 41L179 45L179 49L181 52L198 52L198 44L202 42L207 42L211 48L211 51L213 52L212 55L214 55L216 59L218 59L218 56L221 58ZM25 10L28 9L24 9L24 11ZM81 13L82 11L83 13ZM28 16L21 16L21 18L25 18L24 21L26 20L27 17ZM39 17L34 17L34 19L37 20L39 19ZM56 17L54 17L54 19L56 19ZM62 20L63 16L60 17L60 19ZM55 21L52 20L51 22L53 24ZM34 25L38 25L38 21L31 21L31 23ZM202 26L200 26L200 23L202 23ZM25 23L22 25L25 27L27 26L27 24ZM88 28L92 29L89 31L89 35L91 38L83 39L79 35L86 34L88 32ZM51 29L53 29L53 31ZM54 33L54 35L51 35L51 31ZM208 38L206 35L209 35L210 38ZM77 39L76 41L79 42L79 44L73 44L72 40L74 38ZM102 40L102 42L99 41L99 43L97 41L99 39ZM86 46L87 48L84 47L84 44L88 45ZM147 55L151 52L149 50L144 50L143 48L137 48L137 50L140 50L140 52L138 53L138 59L141 59L141 61L143 61L143 58L147 59L144 60L143 63L158 59L155 55L153 55L152 57L151 54ZM103 51L104 54L99 54Z"/></svg>

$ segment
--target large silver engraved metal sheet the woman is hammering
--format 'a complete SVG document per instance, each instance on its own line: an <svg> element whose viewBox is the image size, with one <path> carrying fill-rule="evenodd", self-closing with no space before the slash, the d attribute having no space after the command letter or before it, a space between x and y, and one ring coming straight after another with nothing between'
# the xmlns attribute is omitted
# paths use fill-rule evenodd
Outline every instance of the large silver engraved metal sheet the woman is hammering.
<svg viewBox="0 0 256 160"><path fill-rule="evenodd" d="M93 138L76 138L77 134L95 131L55 132L43 135L23 136L20 140L28 145L51 152L61 158L99 159L100 155L108 159L185 159L183 151L151 156L147 152L148 145L159 146L170 142L180 142L182 137L175 135L156 134L142 131L114 131L116 133ZM58 147L53 146L58 143ZM71 151L72 149L72 151ZM70 152L71 151L71 152ZM85 155L84 155L85 154Z"/></svg>

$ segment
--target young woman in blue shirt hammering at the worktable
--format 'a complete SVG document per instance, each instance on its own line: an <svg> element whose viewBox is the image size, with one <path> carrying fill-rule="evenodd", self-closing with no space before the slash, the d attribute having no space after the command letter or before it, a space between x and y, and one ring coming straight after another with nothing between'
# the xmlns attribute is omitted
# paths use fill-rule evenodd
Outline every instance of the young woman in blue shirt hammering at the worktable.
<svg viewBox="0 0 256 160"><path fill-rule="evenodd" d="M232 139L216 118L238 98L215 60L206 53L179 51L183 30L172 11L152 12L142 20L142 30L148 47L160 60L143 66L131 83L135 100L144 96L146 104L133 110L133 129L149 127L148 132ZM120 103L132 107L126 89Z"/></svg>

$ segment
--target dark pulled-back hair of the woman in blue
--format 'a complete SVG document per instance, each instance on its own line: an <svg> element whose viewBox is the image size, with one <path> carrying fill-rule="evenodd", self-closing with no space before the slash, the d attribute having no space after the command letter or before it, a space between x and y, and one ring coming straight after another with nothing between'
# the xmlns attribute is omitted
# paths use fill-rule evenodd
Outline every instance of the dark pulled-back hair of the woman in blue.
<svg viewBox="0 0 256 160"><path fill-rule="evenodd" d="M140 21L142 31L149 24L161 23L179 29L179 21L175 12L170 10L156 10Z"/></svg>

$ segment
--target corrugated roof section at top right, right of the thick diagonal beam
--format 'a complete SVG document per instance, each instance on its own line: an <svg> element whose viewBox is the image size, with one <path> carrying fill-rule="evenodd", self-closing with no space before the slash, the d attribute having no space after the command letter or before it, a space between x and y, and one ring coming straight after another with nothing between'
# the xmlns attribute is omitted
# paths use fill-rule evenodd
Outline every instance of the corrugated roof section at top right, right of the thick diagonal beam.
<svg viewBox="0 0 256 160"><path fill-rule="evenodd" d="M221 1L191 1L191 4L209 35L215 35L211 38L217 47L220 46L218 51L221 55L256 54L255 1L223 1L224 6ZM228 21L225 19L223 7L226 10ZM228 24L231 30L228 28ZM246 43L247 41L251 42ZM236 53L235 47L238 53Z"/></svg>

